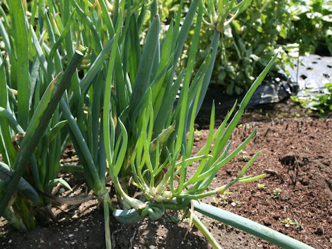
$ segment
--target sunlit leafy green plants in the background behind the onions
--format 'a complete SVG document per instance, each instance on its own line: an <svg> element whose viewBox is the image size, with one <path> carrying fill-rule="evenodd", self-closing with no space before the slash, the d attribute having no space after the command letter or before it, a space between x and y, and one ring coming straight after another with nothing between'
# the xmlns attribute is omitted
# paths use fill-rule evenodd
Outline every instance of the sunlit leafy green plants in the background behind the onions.
<svg viewBox="0 0 332 249"><path fill-rule="evenodd" d="M176 6L176 1L159 3L162 10L169 10L164 11L165 15L174 15L170 6ZM211 83L221 86L228 95L240 95L266 66L275 48L282 46L283 50L269 77L284 69L285 64L293 66L299 53L331 54L331 32L331 0L253 0L221 34ZM212 31L203 25L201 34L196 66L208 53ZM187 48L190 44L185 45ZM185 59L184 54L183 62Z"/></svg>

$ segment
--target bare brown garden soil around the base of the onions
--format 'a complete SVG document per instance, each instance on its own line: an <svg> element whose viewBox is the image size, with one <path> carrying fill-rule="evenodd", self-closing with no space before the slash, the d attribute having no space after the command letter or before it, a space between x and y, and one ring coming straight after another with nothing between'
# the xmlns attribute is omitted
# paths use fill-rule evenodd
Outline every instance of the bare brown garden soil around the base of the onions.
<svg viewBox="0 0 332 249"><path fill-rule="evenodd" d="M217 110L221 120L223 111ZM195 149L205 142L208 115L199 114ZM219 120L219 121L220 121ZM205 199L220 208L303 241L314 248L332 248L332 120L319 120L289 102L249 109L232 135L232 147L239 145L257 127L257 136L222 168L210 186L219 187L262 150L247 174L267 173L254 183L230 187L225 196ZM204 129L202 129L204 128ZM73 151L66 161L77 162ZM190 168L194 172L195 165ZM83 174L62 173L73 192L60 188L59 196L89 192ZM258 185L259 184L259 185ZM64 191L64 192L63 192ZM59 194L61 193L61 194ZM91 194L91 193L89 193ZM81 205L52 208L57 222L47 228L17 232L0 219L0 248L104 248L102 208L93 199ZM178 221L180 212L167 212L158 221L120 224L111 219L114 248L211 248L201 233ZM199 216L222 248L278 248L228 225ZM292 222L286 227L287 219ZM178 222L176 222L178 221Z"/></svg>

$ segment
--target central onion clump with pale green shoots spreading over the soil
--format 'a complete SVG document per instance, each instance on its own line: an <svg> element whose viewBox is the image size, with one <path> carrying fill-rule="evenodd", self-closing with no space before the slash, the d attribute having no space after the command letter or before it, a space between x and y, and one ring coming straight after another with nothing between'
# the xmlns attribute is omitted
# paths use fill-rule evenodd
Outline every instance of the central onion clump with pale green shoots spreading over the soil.
<svg viewBox="0 0 332 249"><path fill-rule="evenodd" d="M73 24L76 34L71 38L86 46L90 55L87 60L91 62L82 70L79 88L60 102L60 109L68 122L86 180L104 207L106 240L110 246L109 209L122 222L136 222L147 216L158 219L165 209L186 209L192 200L221 194L234 183L263 176L244 176L258 153L236 179L217 190L206 191L219 169L255 136L254 131L230 151L230 135L275 58L252 85L234 117L230 119L236 104L216 131L212 107L208 142L192 156L194 120L208 89L220 31L246 6L246 1L239 4L230 1L225 8L227 13L216 18L210 53L196 73L193 68L206 9L202 1L192 1L185 19L181 19L181 1L163 37L156 1L147 5L144 1L115 1L111 6L107 1L98 3L93 7L78 1L68 3L69 12L77 13ZM219 8L222 10L222 4ZM146 15L150 16L150 27L142 40L140 33ZM179 58L193 22L187 66L178 72ZM75 101L86 109L81 117L72 108L71 102ZM199 167L189 177L187 168L194 162ZM104 187L110 181L121 209L114 207ZM129 194L132 187L143 199Z"/></svg>

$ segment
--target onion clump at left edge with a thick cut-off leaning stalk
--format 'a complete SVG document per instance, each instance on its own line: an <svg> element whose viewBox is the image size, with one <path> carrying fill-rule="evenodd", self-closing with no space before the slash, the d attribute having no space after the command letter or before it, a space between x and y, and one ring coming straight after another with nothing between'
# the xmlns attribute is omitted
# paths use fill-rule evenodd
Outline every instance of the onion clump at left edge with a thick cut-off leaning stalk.
<svg viewBox="0 0 332 249"><path fill-rule="evenodd" d="M68 55L63 68L57 53L63 38L59 35L55 40L50 22L48 40L41 26L37 33L36 27L28 26L34 24L37 12L39 25L48 19L42 6L32 3L29 16L21 1L7 4L8 12L0 7L4 44L0 54L0 214L18 230L30 230L53 217L49 204L55 184L70 189L57 177L68 140L61 136L66 121L57 104L84 55L79 51ZM68 16L68 24L62 27L64 34L71 19Z"/></svg>

